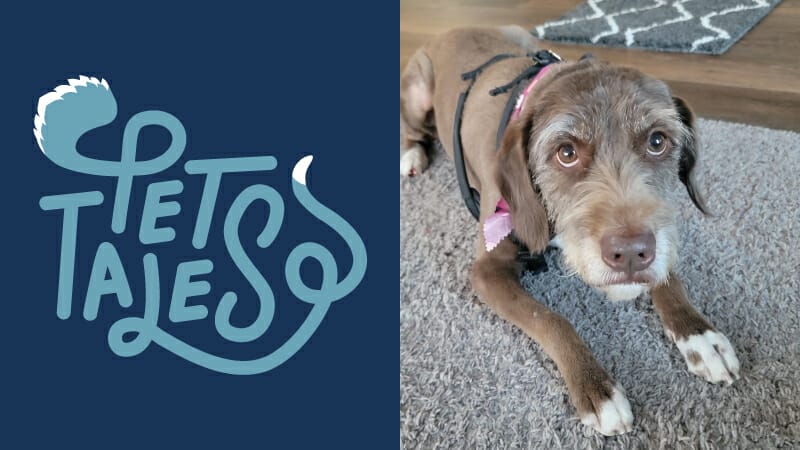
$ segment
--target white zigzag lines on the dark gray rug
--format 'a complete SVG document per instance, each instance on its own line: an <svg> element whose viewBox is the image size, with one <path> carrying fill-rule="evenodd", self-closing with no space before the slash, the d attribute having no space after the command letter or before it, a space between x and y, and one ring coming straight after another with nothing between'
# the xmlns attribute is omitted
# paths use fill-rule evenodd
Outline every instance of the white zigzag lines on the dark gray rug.
<svg viewBox="0 0 800 450"><path fill-rule="evenodd" d="M692 9L695 11L695 14L697 14L697 16L693 15L687 9L687 7L685 7L686 3L689 3L691 1L693 1L694 5ZM714 6L707 6L707 4L704 3L704 0L674 0L672 2L666 0L653 0L652 3L646 5L629 7L625 9L620 9L618 3L619 2L617 2L616 6L609 6L604 9L605 5L603 0L588 0L586 4L591 9L591 12L581 17L564 18L552 22L546 22L542 25L537 26L534 29L535 33L539 38L546 38L548 30L554 27L574 26L574 25L580 26L581 22L603 19L606 21L608 27L605 30L591 36L589 38L589 41L592 42L593 44L597 44L598 42L601 42L601 40L609 42L608 39L604 38L619 36L619 39L621 39L624 42L624 45L630 47L637 44L637 35L646 35L648 32L652 32L653 30L656 30L660 27L669 26L675 23L696 21L699 22L699 25L702 27L702 29L708 30L710 32L710 34L701 36L691 42L690 44L691 51L696 51L704 44L708 44L710 42L714 42L720 39L731 38L731 32L721 28L718 22L716 24L712 23L712 21L714 21L715 19L718 19L719 17L725 16L727 14L736 13L740 11L760 9L760 8L769 9L773 6L773 4L776 3L776 1L742 0L739 4L735 4L733 6L723 5L725 6L724 9L719 9L717 11L709 11L709 12L706 12L708 11L708 8ZM733 1L731 1L730 3L733 3ZM652 22L637 26L629 26L626 27L624 30L620 29L620 26L617 22L617 18L620 16L642 13L645 11L662 7L669 7L671 10L674 10L674 15L672 15L668 19L659 22ZM705 11L703 11L704 14L700 15L700 13L697 13L697 11L698 10L702 11L703 7L706 7ZM716 6L716 8L720 8L720 6ZM606 9L609 10L607 11ZM630 20L627 20L627 22L630 22ZM594 26L596 26L596 24ZM586 39L586 37L587 36L584 35L583 39Z"/></svg>

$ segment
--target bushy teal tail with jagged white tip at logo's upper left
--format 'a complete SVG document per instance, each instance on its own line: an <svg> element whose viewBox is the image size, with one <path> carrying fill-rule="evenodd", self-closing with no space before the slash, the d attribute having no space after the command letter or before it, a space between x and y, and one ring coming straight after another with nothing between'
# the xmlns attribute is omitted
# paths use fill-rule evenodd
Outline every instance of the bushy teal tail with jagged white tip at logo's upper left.
<svg viewBox="0 0 800 450"><path fill-rule="evenodd" d="M117 117L117 100L105 79L81 75L67 83L39 98L33 118L36 143L57 164L61 155L76 152L81 135Z"/></svg>

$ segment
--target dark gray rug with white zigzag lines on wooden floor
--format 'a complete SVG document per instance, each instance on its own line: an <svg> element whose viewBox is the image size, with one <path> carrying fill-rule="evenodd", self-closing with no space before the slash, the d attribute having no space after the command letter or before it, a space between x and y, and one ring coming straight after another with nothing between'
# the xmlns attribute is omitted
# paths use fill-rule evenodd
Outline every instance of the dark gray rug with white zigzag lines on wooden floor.
<svg viewBox="0 0 800 450"><path fill-rule="evenodd" d="M589 0L537 26L542 39L720 55L780 0Z"/></svg>

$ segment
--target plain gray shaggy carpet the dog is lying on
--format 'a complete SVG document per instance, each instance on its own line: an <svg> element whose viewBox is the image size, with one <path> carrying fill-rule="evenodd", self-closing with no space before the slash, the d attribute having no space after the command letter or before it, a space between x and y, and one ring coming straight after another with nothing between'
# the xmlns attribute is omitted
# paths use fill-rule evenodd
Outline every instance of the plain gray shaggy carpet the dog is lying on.
<svg viewBox="0 0 800 450"><path fill-rule="evenodd" d="M713 217L676 188L679 273L736 348L725 388L690 374L649 297L611 303L558 269L526 274L627 390L634 431L580 424L555 364L480 303L468 272L477 225L453 163L400 182L402 448L800 448L800 134L699 121L698 181Z"/></svg>

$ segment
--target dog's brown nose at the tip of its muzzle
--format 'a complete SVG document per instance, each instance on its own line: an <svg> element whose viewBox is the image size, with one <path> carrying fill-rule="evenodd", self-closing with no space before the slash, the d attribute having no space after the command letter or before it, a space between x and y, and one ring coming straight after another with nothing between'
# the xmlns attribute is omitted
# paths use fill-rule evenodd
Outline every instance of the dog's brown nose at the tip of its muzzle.
<svg viewBox="0 0 800 450"><path fill-rule="evenodd" d="M656 256L653 233L609 233L600 239L603 261L614 270L634 273L650 267Z"/></svg>

